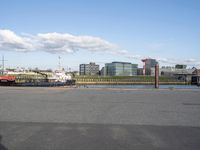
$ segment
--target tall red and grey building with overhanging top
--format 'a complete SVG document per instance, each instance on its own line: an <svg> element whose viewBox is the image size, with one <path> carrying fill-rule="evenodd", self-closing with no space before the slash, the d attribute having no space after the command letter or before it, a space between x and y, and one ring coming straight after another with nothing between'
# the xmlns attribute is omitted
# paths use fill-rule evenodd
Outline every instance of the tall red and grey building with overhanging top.
<svg viewBox="0 0 200 150"><path fill-rule="evenodd" d="M152 68L154 68L156 64L158 64L156 59L151 59L151 58L142 59L142 62L143 62L143 75L151 75Z"/></svg>

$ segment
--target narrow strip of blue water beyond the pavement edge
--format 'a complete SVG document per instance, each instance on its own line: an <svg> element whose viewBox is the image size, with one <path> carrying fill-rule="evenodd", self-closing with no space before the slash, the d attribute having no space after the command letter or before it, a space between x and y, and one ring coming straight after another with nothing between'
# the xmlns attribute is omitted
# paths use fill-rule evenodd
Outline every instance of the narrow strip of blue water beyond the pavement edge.
<svg viewBox="0 0 200 150"><path fill-rule="evenodd" d="M153 89L154 85L81 85L79 88ZM200 89L200 86L159 85L159 89Z"/></svg>

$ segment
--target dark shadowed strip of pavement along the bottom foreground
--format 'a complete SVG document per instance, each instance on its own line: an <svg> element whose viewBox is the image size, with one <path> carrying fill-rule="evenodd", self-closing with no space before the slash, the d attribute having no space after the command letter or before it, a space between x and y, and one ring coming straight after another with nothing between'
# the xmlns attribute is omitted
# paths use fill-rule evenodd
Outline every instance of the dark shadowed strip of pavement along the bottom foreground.
<svg viewBox="0 0 200 150"><path fill-rule="evenodd" d="M0 131L14 150L200 149L199 127L0 122Z"/></svg>

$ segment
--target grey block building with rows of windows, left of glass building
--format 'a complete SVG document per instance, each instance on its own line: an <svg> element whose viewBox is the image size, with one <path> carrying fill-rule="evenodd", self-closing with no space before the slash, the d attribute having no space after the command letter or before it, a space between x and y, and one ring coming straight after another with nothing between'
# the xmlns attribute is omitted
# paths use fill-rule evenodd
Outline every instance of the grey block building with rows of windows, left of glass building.
<svg viewBox="0 0 200 150"><path fill-rule="evenodd" d="M99 65L90 62L89 64L80 64L80 75L99 75Z"/></svg>

